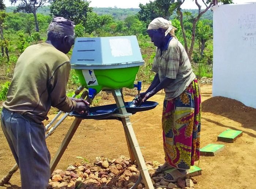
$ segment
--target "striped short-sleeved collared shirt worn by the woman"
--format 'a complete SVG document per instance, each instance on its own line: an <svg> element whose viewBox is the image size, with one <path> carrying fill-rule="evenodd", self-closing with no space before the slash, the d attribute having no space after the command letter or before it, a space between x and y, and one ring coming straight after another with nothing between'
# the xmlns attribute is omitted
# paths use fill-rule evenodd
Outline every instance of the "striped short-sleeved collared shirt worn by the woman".
<svg viewBox="0 0 256 189"><path fill-rule="evenodd" d="M162 55L161 49L156 49L151 71L158 73L160 81L165 77L174 79L164 88L166 100L180 96L196 78L184 47L175 38L170 40L167 50L162 51Z"/></svg>

